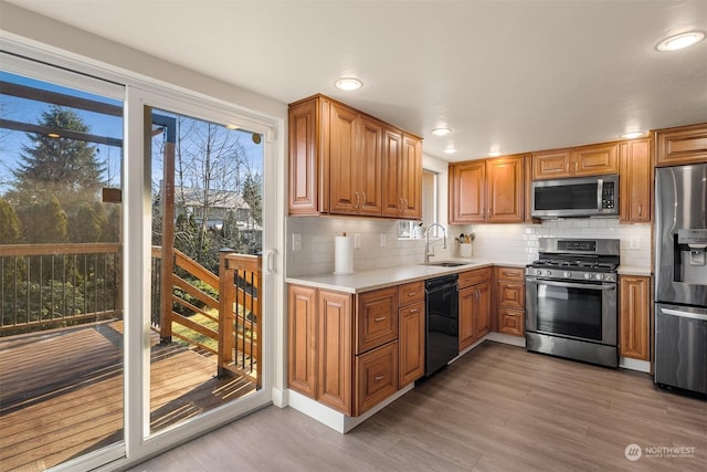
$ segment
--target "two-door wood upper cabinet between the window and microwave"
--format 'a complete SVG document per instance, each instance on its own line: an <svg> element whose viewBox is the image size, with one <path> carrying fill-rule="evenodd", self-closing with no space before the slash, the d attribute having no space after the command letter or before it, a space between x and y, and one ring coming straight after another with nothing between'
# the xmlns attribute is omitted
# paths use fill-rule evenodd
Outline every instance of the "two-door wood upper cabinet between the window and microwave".
<svg viewBox="0 0 707 472"><path fill-rule="evenodd" d="M450 165L451 224L525 220L525 156Z"/></svg>

